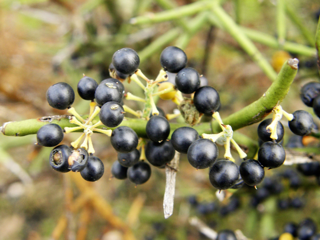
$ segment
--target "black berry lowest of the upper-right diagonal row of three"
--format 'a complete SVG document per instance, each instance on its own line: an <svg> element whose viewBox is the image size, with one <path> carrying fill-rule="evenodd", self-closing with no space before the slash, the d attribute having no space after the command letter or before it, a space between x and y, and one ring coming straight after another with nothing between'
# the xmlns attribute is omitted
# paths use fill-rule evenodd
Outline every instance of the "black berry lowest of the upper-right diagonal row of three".
<svg viewBox="0 0 320 240"><path fill-rule="evenodd" d="M212 86L202 86L194 92L195 108L204 114L212 114L220 105L219 93Z"/></svg>

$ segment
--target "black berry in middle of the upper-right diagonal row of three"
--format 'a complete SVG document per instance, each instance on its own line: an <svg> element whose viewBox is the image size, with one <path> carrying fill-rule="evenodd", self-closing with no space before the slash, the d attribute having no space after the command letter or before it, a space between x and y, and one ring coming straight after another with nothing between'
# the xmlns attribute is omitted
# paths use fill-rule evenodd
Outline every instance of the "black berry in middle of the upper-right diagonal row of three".
<svg viewBox="0 0 320 240"><path fill-rule="evenodd" d="M175 76L175 86L185 94L194 92L200 86L199 73L192 67L182 68Z"/></svg>

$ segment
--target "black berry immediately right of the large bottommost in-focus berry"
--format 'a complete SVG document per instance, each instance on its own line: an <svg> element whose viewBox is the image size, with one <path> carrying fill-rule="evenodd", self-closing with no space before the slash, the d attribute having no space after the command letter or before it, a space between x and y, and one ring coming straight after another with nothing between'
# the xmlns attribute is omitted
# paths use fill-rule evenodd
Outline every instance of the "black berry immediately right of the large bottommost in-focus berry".
<svg viewBox="0 0 320 240"><path fill-rule="evenodd" d="M239 171L242 180L249 186L255 186L259 184L264 177L263 167L254 159L242 161Z"/></svg>

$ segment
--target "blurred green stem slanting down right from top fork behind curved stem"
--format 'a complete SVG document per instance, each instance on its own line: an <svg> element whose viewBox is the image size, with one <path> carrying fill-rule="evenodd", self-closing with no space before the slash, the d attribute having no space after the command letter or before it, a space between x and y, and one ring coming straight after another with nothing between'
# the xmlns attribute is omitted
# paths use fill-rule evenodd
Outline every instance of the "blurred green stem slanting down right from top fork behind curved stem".
<svg viewBox="0 0 320 240"><path fill-rule="evenodd" d="M215 1L214 1L215 2ZM215 2L216 3L216 2ZM212 12L223 25L223 28L239 43L249 56L261 67L264 73L273 81L276 78L276 72L269 62L262 56L253 42L243 33L240 27L217 3L212 7Z"/></svg>

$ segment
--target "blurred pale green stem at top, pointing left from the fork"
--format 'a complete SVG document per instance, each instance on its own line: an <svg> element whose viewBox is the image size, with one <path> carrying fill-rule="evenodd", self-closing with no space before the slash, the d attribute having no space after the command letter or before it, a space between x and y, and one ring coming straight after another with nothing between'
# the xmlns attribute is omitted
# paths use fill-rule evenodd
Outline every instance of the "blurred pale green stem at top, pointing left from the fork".
<svg viewBox="0 0 320 240"><path fill-rule="evenodd" d="M193 15L199 11L210 8L213 4L212 0L199 0L194 3L176 7L174 9L169 9L166 11L161 11L154 14L149 14L145 16L137 16L131 18L131 24L145 24L145 23L155 23L161 21L175 20L184 16Z"/></svg>

